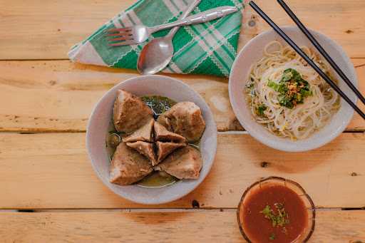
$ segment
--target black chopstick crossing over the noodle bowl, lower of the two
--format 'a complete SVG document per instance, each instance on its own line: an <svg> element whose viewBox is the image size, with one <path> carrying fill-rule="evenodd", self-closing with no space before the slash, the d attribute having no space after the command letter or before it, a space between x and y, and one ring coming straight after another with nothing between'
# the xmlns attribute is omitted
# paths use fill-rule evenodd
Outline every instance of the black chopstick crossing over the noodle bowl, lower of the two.
<svg viewBox="0 0 365 243"><path fill-rule="evenodd" d="M259 6L257 6L255 4L254 1L250 1L250 6L252 7L252 9L254 9L257 14L259 14L259 16L262 17L262 19L264 19L264 21L267 22L267 24L269 24L269 26L272 27L272 29L274 29L274 31L276 31L279 36L281 36L284 41L286 41L289 46L291 46L294 51L296 51L299 56L302 56L302 58L307 61L307 63L309 64L309 66L312 66L312 68L317 71L317 73L319 74L319 76L321 76L325 81L327 81L327 83L329 84L329 86L331 86L331 88L334 89L334 91L336 91L344 100L346 100L347 103L349 103L349 105L351 105L352 108L354 108L354 110L356 110L357 113L359 113L359 115L361 116L361 118L363 118L365 120L365 114L349 99L349 97L346 96L346 94L344 92L342 92L338 86L336 86L336 83L334 83L334 81L331 81L331 78L329 78L329 76L326 75L326 73L324 73L321 68L319 68L313 61L311 58L309 58L307 56L306 53L304 53L304 51L302 51L301 48L299 48L299 46L297 46L296 43L294 43L294 41L292 41L291 38L289 38L289 36L287 36L286 33L284 33L284 31L282 31L282 29L279 28L279 26L277 26L277 24L274 23L274 21L272 21L269 16L267 16L264 11L262 11Z"/></svg>

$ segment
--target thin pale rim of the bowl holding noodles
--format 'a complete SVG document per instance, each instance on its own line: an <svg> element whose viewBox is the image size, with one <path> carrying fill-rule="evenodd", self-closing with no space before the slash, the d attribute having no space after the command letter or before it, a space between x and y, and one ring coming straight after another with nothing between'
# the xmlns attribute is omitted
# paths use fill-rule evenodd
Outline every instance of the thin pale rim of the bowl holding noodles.
<svg viewBox="0 0 365 243"><path fill-rule="evenodd" d="M299 28L297 28L297 26L280 26L280 29L282 29L284 32L286 31L297 31L298 33L302 32L299 30ZM339 52L341 58L344 59L344 61L346 61L346 63L349 63L351 65L349 65L349 71L351 73L354 73L354 86L356 86L356 88L358 87L358 79L357 79L357 75L356 75L356 70L354 68L354 65L351 63L351 60L349 58L349 56L346 55L346 52L344 51L344 49L339 45L339 43L337 43L336 41L332 40L331 38L329 38L328 36L326 36L324 33L321 33L319 31L314 31L313 29L308 29L309 32L311 32L314 35L319 35L321 36L321 38L324 38L328 43L331 43L332 46L334 46L336 48L336 50ZM234 92L232 91L232 83L233 83L233 73L235 68L237 68L237 63L239 61L240 58L243 58L242 53L245 52L248 48L250 48L250 46L252 45L252 43L254 43L255 41L257 41L257 39L262 38L262 36L266 36L266 35L273 35L276 34L276 32L273 29L269 29L267 31L263 31L262 33L259 33L259 35L255 36L254 38L252 38L250 41L248 41L245 46L241 49L241 51L237 54L237 57L235 59L235 61L232 64L232 69L230 72L230 78L229 78L229 83L228 83L228 93L230 96L230 103L232 106L232 110L235 113L237 120L240 122L240 124L242 125L243 128L245 128L245 130L247 130L247 133L249 133L253 138L255 138L257 141L259 141L260 143L267 145L270 148L274 148L276 150L281 150L284 152L306 152L309 150L315 150L317 148L320 148L324 145L326 145L327 143L331 143L332 140L334 140L335 138L337 138L339 135L341 135L341 133L344 132L344 130L346 130L347 126L349 125L349 123L351 123L352 118L354 117L354 110L351 108L351 110L349 111L349 113L351 113L351 115L349 115L347 118L344 118L344 122L341 123L341 125L339 126L338 129L336 129L336 131L334 133L331 133L330 135L328 135L328 139L327 140L323 140L321 143L317 143L316 145L312 145L312 146L308 146L307 148L299 148L299 146L297 146L296 148L286 148L285 146L283 146L281 143L273 143L270 142L270 139L263 139L263 136L260 135L260 132L257 132L256 130L253 130L250 128L250 125L247 125L243 120L240 120L240 109L236 107L236 105L234 104ZM354 103L357 103L358 98L355 96L354 98ZM342 102L343 100L341 100ZM343 106L342 106L343 107Z"/></svg>

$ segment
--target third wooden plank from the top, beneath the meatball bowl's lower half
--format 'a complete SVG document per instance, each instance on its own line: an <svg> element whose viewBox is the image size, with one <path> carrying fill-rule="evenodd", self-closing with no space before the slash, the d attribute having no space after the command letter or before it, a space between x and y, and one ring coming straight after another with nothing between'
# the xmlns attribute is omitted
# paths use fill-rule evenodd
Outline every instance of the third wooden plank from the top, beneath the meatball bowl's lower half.
<svg viewBox="0 0 365 243"><path fill-rule="evenodd" d="M202 185L181 200L150 207L236 207L260 177L299 182L317 207L365 206L365 134L343 133L311 152L267 148L247 134L220 134L217 156ZM0 134L0 209L143 208L98 180L86 155L85 134ZM196 205L196 202L195 202Z"/></svg>

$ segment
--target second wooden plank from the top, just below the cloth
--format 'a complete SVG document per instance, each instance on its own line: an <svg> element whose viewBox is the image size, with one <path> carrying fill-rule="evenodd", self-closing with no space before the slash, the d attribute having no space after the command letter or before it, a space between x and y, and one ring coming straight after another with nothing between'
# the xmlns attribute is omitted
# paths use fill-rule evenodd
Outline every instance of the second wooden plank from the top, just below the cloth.
<svg viewBox="0 0 365 243"><path fill-rule="evenodd" d="M353 59L365 93L365 59ZM0 131L85 131L99 98L135 71L73 64L69 61L0 61ZM230 106L227 79L173 75L205 98L220 131L242 130ZM9 100L11 102L9 103ZM364 108L364 106L363 106ZM355 115L348 130L365 130Z"/></svg>

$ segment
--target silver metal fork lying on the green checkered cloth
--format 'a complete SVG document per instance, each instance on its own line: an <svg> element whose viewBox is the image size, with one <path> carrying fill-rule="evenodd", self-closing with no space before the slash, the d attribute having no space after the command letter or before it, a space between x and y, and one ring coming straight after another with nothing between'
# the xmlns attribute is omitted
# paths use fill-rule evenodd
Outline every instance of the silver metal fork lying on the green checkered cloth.
<svg viewBox="0 0 365 243"><path fill-rule="evenodd" d="M148 37L157 31L171 29L175 26L188 26L192 24L205 23L207 21L212 21L214 19L233 14L236 11L238 11L238 9L234 6L220 6L218 8L210 9L200 14L187 17L186 19L178 20L168 24L162 24L160 26L148 27L137 25L125 28L108 29L106 30L106 36L114 37L108 40L110 41L109 46L126 46L138 44L147 41Z"/></svg>

